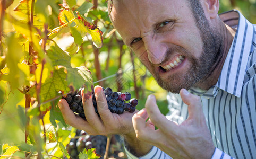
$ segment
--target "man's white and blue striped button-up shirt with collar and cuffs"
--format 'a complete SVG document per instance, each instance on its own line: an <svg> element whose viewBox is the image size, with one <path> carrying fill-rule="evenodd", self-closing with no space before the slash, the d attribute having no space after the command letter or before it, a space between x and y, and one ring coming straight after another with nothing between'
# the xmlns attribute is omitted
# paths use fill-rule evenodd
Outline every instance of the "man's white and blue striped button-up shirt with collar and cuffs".
<svg viewBox="0 0 256 159"><path fill-rule="evenodd" d="M236 34L216 85L208 91L190 89L200 96L207 126L216 147L212 158L256 158L256 25L236 10L220 14ZM183 122L187 105L180 95L168 93L166 118ZM128 158L138 158L125 150ZM171 158L159 148L139 158Z"/></svg>

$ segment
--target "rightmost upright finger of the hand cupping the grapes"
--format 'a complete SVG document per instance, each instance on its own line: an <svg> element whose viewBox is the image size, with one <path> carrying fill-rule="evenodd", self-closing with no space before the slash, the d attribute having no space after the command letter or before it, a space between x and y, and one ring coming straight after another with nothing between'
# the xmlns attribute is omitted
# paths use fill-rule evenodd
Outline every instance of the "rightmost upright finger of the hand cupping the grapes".
<svg viewBox="0 0 256 159"><path fill-rule="evenodd" d="M100 118L103 120L104 125L108 125L108 123L113 123L113 114L108 109L108 104L106 100L106 95L103 92L101 86L96 86L95 89L95 97L97 101L98 112Z"/></svg>

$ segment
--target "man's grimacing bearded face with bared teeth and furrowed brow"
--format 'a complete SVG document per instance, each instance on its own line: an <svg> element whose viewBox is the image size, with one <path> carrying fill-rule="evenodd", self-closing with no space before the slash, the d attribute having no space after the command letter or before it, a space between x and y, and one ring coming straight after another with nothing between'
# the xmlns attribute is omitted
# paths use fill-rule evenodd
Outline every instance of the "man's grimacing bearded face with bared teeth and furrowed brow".
<svg viewBox="0 0 256 159"><path fill-rule="evenodd" d="M110 16L125 44L167 91L190 89L217 60L218 33L209 24L199 29L187 1L118 0Z"/></svg>

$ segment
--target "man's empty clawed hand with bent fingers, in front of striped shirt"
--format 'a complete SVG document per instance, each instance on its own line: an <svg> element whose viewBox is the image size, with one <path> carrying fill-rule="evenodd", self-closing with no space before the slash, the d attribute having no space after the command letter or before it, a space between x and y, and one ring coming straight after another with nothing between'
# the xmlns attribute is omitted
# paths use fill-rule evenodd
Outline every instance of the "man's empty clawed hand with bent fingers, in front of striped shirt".
<svg viewBox="0 0 256 159"><path fill-rule="evenodd" d="M146 109L134 114L133 127L138 139L155 145L173 158L211 158L215 151L210 131L202 111L199 96L180 91L188 105L189 117L180 125L161 114L153 95L146 101ZM145 122L149 117L149 120ZM158 127L155 130L155 126Z"/></svg>

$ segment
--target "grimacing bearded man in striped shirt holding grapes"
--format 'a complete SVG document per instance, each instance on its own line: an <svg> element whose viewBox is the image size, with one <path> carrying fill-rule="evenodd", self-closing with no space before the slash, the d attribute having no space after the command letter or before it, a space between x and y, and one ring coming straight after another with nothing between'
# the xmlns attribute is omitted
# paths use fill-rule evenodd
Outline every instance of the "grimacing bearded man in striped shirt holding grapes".
<svg viewBox="0 0 256 159"><path fill-rule="evenodd" d="M218 15L218 0L113 0L109 5L125 44L172 92L170 120L153 95L134 115L112 114L96 86L100 118L91 98L83 100L87 121L75 117L62 99L66 122L92 135L121 134L129 158L253 158L255 25L238 11Z"/></svg>

